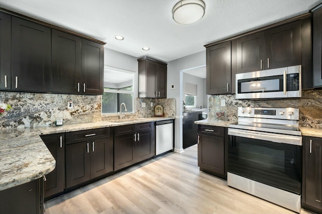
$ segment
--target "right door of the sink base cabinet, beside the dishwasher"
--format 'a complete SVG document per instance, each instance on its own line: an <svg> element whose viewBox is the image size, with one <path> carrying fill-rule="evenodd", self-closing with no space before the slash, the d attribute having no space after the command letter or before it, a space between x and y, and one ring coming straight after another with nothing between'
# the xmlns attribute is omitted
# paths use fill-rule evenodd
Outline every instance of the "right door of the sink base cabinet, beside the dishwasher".
<svg viewBox="0 0 322 214"><path fill-rule="evenodd" d="M143 131L136 133L136 141L134 142L135 162L145 160L155 155L155 143L153 143L153 132Z"/></svg>

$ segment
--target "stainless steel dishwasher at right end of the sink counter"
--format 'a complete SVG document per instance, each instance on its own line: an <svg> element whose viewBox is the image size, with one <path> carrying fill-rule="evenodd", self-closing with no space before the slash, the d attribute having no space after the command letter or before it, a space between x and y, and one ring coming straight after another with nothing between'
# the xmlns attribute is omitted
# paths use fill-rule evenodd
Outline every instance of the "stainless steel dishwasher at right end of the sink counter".
<svg viewBox="0 0 322 214"><path fill-rule="evenodd" d="M155 155L173 151L174 120L155 122Z"/></svg>

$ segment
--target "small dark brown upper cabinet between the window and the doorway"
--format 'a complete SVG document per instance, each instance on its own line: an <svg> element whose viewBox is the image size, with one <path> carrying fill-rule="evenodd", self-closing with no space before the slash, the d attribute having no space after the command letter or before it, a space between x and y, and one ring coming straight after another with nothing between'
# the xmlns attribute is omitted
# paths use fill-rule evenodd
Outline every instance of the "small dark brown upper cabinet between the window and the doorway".
<svg viewBox="0 0 322 214"><path fill-rule="evenodd" d="M144 57L138 61L140 98L167 98L167 64Z"/></svg>

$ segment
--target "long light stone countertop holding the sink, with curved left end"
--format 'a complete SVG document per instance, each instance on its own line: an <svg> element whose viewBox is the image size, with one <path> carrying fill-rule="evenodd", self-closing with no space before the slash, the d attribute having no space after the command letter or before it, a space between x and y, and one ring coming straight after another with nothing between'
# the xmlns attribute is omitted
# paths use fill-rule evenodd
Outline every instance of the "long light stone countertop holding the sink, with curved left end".
<svg viewBox="0 0 322 214"><path fill-rule="evenodd" d="M58 127L2 129L0 132L0 191L38 179L51 172L56 161L39 135L170 120L149 117Z"/></svg>

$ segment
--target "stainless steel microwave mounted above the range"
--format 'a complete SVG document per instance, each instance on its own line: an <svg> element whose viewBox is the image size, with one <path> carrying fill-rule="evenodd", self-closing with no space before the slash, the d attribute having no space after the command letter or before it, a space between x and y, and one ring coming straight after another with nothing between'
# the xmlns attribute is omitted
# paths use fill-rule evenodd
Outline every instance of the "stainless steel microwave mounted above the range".
<svg viewBox="0 0 322 214"><path fill-rule="evenodd" d="M301 65L236 74L236 99L280 99L301 95Z"/></svg>

